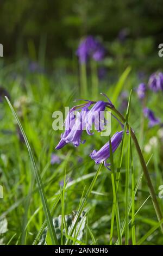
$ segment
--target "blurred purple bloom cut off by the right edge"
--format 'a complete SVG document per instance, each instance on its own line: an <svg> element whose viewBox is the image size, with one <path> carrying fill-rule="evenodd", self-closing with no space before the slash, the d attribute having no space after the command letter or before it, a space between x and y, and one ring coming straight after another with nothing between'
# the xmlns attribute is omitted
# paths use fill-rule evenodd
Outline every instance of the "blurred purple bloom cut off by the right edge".
<svg viewBox="0 0 163 256"><path fill-rule="evenodd" d="M163 90L163 73L154 73L149 77L148 86L153 92Z"/></svg>

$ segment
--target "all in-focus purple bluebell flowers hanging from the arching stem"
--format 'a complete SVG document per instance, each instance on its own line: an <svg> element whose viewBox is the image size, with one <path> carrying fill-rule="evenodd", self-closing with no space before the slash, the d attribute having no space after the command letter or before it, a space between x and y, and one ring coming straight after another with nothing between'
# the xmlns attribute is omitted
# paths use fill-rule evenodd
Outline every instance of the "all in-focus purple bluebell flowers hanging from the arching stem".
<svg viewBox="0 0 163 256"><path fill-rule="evenodd" d="M91 107L92 105L93 107ZM61 134L60 142L55 149L61 149L70 142L75 147L78 147L80 143L84 143L85 141L82 141L81 139L83 130L85 129L88 135L93 135L93 133L91 133L92 123L95 124L95 129L97 131L102 131L106 123L104 111L107 105L109 107L113 107L110 101L87 101L83 105L78 105L71 108L65 119L65 132ZM90 107L91 109L89 109ZM77 114L74 113L76 109L80 110L80 112L77 112ZM112 136L111 148L113 153L118 148L118 145L120 145L122 136L123 131L116 132L115 135ZM90 157L95 161L96 164L104 162L105 167L108 168L110 164L106 163L106 160L110 157L109 142L104 144L103 147L98 151L93 150Z"/></svg>

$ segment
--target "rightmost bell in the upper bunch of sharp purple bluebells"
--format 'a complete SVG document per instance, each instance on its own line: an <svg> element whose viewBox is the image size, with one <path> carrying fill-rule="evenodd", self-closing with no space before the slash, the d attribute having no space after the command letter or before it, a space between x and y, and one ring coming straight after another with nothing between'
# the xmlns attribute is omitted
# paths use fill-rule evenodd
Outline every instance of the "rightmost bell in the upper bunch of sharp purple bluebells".
<svg viewBox="0 0 163 256"><path fill-rule="evenodd" d="M86 132L88 135L92 135L90 132L92 129L92 124L95 123L95 128L97 131L102 131L104 129L105 118L104 110L108 102L97 101L96 104L90 109L86 115Z"/></svg>

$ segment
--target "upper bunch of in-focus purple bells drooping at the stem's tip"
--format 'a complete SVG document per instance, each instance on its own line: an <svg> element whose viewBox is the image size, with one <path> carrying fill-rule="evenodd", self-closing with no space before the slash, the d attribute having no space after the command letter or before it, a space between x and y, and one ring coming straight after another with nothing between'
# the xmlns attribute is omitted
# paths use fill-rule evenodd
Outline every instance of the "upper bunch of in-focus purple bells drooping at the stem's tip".
<svg viewBox="0 0 163 256"><path fill-rule="evenodd" d="M82 133L83 130L86 129L89 135L92 135L90 130L92 129L92 124L95 124L95 128L97 131L104 130L106 120L104 118L104 110L106 105L113 107L109 98L105 95L109 102L104 101L89 101L85 100L86 103L82 105L74 106L70 109L66 120L65 120L65 131L61 134L61 140L55 149L61 149L67 143L72 143L75 147L78 147L80 143L85 143L82 141ZM89 109L89 107L94 104L95 105ZM78 109L78 112L75 113L74 111ZM81 110L79 112L79 110Z"/></svg>

